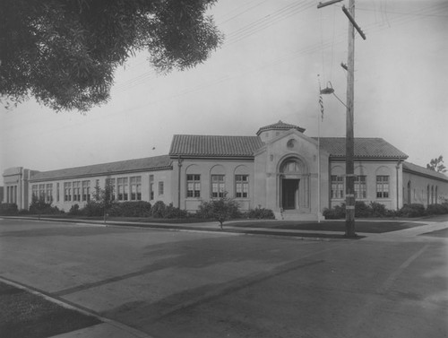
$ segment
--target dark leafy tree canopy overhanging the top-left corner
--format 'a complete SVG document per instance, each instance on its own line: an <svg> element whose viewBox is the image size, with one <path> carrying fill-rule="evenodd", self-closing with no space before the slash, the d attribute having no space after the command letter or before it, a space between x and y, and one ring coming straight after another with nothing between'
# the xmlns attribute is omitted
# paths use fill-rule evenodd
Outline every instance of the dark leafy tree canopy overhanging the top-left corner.
<svg viewBox="0 0 448 338"><path fill-rule="evenodd" d="M114 71L147 50L158 71L202 63L222 41L216 0L2 0L0 95L87 111L109 98Z"/></svg>

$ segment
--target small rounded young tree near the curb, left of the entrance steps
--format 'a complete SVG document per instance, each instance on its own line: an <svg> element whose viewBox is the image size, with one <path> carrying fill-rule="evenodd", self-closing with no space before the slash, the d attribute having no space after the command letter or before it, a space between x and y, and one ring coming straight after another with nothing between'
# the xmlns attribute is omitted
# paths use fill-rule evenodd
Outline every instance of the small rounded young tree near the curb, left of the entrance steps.
<svg viewBox="0 0 448 338"><path fill-rule="evenodd" d="M210 202L202 202L199 207L199 214L204 218L211 218L220 222L220 229L224 221L239 216L239 205L237 201L229 198L227 192L218 199L213 199Z"/></svg>

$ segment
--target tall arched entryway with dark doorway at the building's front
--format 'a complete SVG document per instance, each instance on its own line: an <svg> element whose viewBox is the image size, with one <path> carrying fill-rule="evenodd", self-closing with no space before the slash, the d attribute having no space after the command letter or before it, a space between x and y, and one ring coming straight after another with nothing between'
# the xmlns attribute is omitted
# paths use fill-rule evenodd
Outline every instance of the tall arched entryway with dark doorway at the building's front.
<svg viewBox="0 0 448 338"><path fill-rule="evenodd" d="M289 157L280 163L279 188L281 209L309 208L309 175L303 160Z"/></svg>

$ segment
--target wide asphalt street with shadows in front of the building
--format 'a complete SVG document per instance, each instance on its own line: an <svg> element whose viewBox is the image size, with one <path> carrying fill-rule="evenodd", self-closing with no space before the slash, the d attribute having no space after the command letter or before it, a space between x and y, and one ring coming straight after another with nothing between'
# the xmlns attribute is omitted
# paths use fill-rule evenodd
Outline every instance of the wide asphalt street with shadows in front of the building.
<svg viewBox="0 0 448 338"><path fill-rule="evenodd" d="M435 224L315 241L0 219L0 277L151 337L440 338Z"/></svg>

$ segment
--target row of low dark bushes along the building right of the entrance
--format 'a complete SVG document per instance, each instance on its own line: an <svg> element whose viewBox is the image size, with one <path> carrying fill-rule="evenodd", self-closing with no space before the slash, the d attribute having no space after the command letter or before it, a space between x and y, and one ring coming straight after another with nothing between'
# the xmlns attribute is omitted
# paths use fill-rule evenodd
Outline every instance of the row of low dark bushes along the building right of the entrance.
<svg viewBox="0 0 448 338"><path fill-rule="evenodd" d="M422 217L427 215L448 213L448 203L429 204L426 208L423 204L404 204L399 211L388 210L383 204L371 202L366 204L357 201L355 204L355 217ZM345 204L336 205L332 209L325 208L323 216L326 220L340 220L345 218Z"/></svg>

